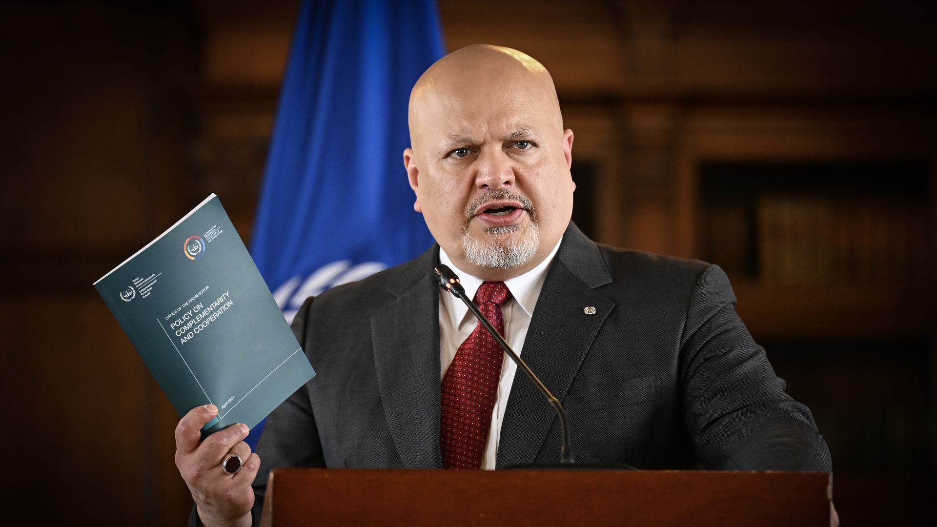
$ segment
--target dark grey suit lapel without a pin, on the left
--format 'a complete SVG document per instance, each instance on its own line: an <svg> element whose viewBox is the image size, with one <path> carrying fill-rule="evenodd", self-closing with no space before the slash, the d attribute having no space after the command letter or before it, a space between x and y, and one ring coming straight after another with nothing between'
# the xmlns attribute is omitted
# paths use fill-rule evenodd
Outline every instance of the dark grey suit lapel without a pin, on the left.
<svg viewBox="0 0 937 527"><path fill-rule="evenodd" d="M396 296L371 318L378 388L397 452L409 469L442 468L439 453L439 288L434 246L407 266Z"/></svg>

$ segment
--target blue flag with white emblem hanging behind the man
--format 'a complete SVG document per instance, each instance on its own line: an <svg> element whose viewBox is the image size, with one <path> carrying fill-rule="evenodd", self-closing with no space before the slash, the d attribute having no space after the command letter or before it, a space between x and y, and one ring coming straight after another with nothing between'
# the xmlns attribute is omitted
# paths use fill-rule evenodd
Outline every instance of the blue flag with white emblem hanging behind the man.
<svg viewBox="0 0 937 527"><path fill-rule="evenodd" d="M432 0L303 1L251 243L288 319L433 243L403 151L410 88L443 53Z"/></svg>

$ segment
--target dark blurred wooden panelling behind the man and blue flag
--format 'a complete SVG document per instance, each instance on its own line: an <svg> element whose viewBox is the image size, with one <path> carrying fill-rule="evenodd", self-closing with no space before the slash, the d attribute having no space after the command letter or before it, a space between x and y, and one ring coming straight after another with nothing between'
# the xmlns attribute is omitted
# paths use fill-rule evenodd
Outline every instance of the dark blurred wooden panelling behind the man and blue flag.
<svg viewBox="0 0 937 527"><path fill-rule="evenodd" d="M553 74L587 233L726 269L830 445L844 524L928 519L934 3L439 9L449 50L511 46ZM0 8L3 452L18 517L184 521L178 417L91 283L209 192L249 242L295 11Z"/></svg>

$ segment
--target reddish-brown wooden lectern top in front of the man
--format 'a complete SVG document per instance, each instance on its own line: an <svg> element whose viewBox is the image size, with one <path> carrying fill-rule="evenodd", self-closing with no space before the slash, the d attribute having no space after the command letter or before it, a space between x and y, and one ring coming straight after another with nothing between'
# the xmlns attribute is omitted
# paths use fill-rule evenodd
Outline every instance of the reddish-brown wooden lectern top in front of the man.
<svg viewBox="0 0 937 527"><path fill-rule="evenodd" d="M825 473L282 469L260 525L829 525Z"/></svg>

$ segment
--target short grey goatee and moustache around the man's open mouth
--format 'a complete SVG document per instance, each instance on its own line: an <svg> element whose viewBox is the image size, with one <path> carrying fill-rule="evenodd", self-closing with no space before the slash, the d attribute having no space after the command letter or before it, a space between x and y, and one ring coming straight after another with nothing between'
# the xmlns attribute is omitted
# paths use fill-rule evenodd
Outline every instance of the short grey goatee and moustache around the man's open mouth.
<svg viewBox="0 0 937 527"><path fill-rule="evenodd" d="M498 227L485 227L484 233L494 235L495 239L486 242L468 232L468 221L475 209L491 200L513 200L524 205L530 215L530 228L519 238L501 240L501 236L515 233L522 229L522 225L500 225ZM466 207L466 226L462 232L462 250L466 260L471 264L491 269L512 269L528 264L540 248L539 218L534 212L532 203L526 197L515 194L507 189L496 189L486 192L479 199Z"/></svg>

